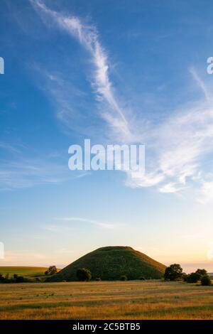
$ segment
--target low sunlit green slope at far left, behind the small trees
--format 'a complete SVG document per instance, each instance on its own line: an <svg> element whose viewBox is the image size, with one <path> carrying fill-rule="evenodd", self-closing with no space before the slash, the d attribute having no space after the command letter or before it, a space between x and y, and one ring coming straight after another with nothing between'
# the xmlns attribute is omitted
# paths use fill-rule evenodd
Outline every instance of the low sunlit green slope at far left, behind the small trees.
<svg viewBox="0 0 213 334"><path fill-rule="evenodd" d="M27 278L42 276L48 268L42 266L0 266L0 273L2 275L9 274L18 274Z"/></svg>

